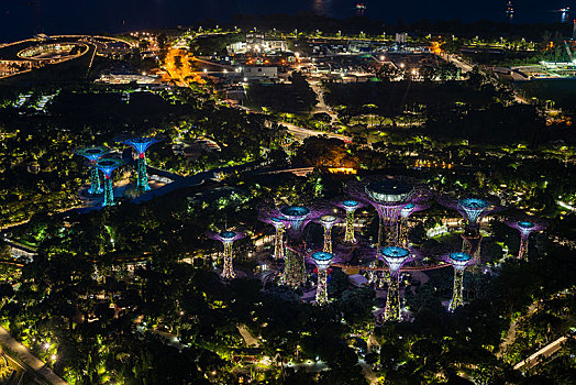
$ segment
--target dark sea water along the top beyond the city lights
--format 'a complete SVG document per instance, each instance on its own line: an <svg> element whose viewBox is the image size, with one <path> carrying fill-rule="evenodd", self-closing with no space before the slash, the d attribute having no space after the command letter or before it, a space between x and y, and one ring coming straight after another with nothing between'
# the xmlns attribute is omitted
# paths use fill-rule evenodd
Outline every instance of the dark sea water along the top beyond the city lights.
<svg viewBox="0 0 576 385"><path fill-rule="evenodd" d="M514 0L516 22L554 22L554 9L568 1ZM268 14L311 11L334 18L355 14L356 3L366 15L396 23L421 19L505 21L505 0L0 0L0 42L35 33L123 32L145 28L189 25L195 21L226 21L236 13ZM574 4L576 6L576 4ZM576 7L574 7L576 9Z"/></svg>

